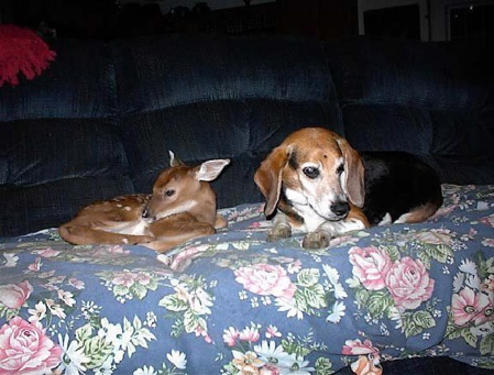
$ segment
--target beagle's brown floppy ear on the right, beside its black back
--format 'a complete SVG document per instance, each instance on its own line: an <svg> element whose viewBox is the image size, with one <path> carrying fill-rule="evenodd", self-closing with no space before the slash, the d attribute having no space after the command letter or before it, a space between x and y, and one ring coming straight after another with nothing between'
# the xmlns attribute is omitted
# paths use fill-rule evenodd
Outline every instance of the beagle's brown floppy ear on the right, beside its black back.
<svg viewBox="0 0 494 375"><path fill-rule="evenodd" d="M344 194L351 202L362 208L365 199L364 166L359 153L344 139L339 139L338 145L344 157Z"/></svg>

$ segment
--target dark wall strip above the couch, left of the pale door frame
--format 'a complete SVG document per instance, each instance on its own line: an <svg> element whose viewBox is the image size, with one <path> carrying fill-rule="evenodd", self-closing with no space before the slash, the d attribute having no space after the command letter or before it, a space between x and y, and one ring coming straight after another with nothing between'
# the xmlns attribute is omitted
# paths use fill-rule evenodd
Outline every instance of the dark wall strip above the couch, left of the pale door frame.
<svg viewBox="0 0 494 375"><path fill-rule="evenodd" d="M212 11L177 7L162 14L157 3L118 0L1 0L1 22L58 37L124 37L163 33L248 34L277 32L319 40L358 34L356 0L277 0Z"/></svg>

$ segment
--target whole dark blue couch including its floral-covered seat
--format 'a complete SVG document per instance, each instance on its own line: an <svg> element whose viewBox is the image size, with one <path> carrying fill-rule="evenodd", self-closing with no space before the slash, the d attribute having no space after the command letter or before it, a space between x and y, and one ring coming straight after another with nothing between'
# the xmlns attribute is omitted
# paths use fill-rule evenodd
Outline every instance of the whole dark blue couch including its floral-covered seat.
<svg viewBox="0 0 494 375"><path fill-rule="evenodd" d="M494 368L494 65L484 46L182 35L52 48L43 75L0 88L0 338L31 330L47 345L46 368L67 372L239 373L252 360L254 373L326 374L362 354ZM417 154L438 172L443 207L426 223L321 251L297 236L266 243L253 174L311 125L356 150ZM150 192L168 150L187 164L231 158L213 183L227 230L164 256L59 239L55 228L80 207ZM388 265L370 289L359 262L376 257ZM409 286L422 288L419 305L384 275L399 282L407 269L420 275ZM253 287L268 275L279 285ZM475 312L462 316L468 307Z"/></svg>

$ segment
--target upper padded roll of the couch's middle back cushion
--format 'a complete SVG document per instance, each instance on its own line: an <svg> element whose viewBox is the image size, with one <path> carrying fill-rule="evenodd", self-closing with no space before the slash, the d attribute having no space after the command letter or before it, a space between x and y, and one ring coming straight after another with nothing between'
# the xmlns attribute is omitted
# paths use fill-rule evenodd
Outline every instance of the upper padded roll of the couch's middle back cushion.
<svg viewBox="0 0 494 375"><path fill-rule="evenodd" d="M334 98L323 47L314 41L156 36L122 41L116 57L124 113L207 100Z"/></svg>

